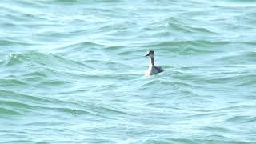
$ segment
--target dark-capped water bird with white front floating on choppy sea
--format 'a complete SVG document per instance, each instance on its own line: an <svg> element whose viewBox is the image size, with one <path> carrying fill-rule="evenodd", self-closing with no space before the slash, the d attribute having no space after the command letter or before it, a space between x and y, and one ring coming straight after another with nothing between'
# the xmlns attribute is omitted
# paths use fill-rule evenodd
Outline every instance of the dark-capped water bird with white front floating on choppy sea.
<svg viewBox="0 0 256 144"><path fill-rule="evenodd" d="M146 77L149 77L150 75L161 73L163 71L162 67L154 66L154 51L153 50L148 51L147 54L145 55L145 57L150 58L149 68L148 68L148 70L146 70L146 74L145 74Z"/></svg>

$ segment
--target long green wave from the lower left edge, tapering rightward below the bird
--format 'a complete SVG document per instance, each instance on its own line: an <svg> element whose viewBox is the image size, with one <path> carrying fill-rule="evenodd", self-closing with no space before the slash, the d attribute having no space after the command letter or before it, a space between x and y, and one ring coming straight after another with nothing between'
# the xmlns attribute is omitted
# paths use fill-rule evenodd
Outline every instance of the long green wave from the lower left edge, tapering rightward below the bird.
<svg viewBox="0 0 256 144"><path fill-rule="evenodd" d="M39 95L27 95L14 93L8 90L0 90L2 98L0 103L2 114L21 115L28 111L45 114L44 111L52 111L65 114L76 115L93 115L104 118L110 118L109 114L128 114L122 110L117 110L115 107L100 106L91 103L79 104L77 102L66 102L49 97Z"/></svg>

